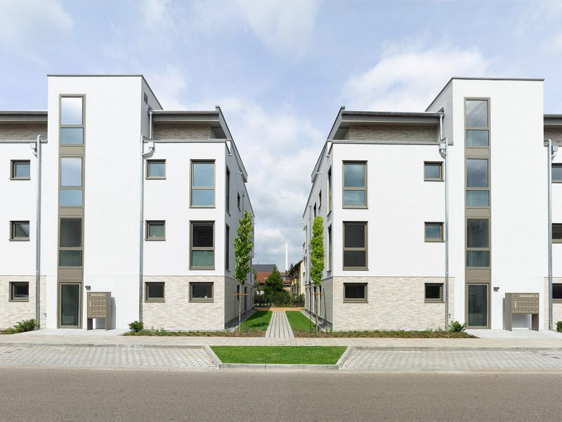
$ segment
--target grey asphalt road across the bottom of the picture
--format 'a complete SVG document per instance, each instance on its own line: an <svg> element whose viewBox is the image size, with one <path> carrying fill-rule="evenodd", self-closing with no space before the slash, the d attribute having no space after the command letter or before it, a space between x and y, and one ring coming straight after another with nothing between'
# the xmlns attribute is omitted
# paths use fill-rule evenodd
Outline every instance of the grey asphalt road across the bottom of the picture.
<svg viewBox="0 0 562 422"><path fill-rule="evenodd" d="M0 369L1 421L561 421L562 375Z"/></svg>

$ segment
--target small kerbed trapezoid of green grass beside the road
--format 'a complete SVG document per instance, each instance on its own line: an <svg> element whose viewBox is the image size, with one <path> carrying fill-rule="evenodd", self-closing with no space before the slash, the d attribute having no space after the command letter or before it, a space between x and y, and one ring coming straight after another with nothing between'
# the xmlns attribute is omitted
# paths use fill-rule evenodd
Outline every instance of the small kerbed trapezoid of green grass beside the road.
<svg viewBox="0 0 562 422"><path fill-rule="evenodd" d="M333 365L345 346L211 346L225 364Z"/></svg>

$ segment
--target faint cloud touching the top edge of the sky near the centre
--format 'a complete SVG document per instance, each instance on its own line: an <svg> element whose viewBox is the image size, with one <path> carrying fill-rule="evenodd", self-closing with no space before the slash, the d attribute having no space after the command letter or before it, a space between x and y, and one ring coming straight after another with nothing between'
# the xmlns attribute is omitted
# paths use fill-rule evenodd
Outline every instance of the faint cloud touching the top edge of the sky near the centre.
<svg viewBox="0 0 562 422"><path fill-rule="evenodd" d="M237 0L242 17L268 49L299 60L306 53L320 0Z"/></svg>

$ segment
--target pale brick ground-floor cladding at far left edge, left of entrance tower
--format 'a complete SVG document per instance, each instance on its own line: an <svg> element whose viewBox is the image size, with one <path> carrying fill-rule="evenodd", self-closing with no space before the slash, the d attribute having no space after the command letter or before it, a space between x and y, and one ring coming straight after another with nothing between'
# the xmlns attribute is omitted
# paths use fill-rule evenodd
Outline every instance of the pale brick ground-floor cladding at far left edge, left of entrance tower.
<svg viewBox="0 0 562 422"><path fill-rule="evenodd" d="M10 282L30 283L29 302L10 302ZM45 326L45 276L39 279L41 327ZM22 319L35 319L35 276L0 276L0 329L13 326Z"/></svg>

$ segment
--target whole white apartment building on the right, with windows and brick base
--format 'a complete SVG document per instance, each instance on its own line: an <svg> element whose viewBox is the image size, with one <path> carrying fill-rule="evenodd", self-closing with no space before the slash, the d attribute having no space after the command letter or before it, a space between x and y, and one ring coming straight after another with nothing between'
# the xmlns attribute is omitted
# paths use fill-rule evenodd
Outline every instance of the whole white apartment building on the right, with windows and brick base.
<svg viewBox="0 0 562 422"><path fill-rule="evenodd" d="M341 108L303 214L305 262L315 215L327 251L307 309L334 330L502 329L506 294L538 293L540 328L562 320L562 153L551 165L544 139L562 145L542 79L453 77L420 113Z"/></svg>

